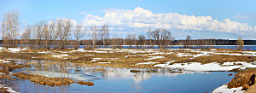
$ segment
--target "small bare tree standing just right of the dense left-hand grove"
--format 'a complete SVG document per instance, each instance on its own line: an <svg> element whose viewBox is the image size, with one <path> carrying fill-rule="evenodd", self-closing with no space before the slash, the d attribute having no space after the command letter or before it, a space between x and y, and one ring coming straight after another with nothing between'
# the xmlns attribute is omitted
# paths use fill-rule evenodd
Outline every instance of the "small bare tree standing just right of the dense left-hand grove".
<svg viewBox="0 0 256 93"><path fill-rule="evenodd" d="M84 29L85 31L85 29ZM74 38L76 39L76 45L75 49L79 49L79 40L84 37L84 32L83 32L83 25L78 24L75 28L75 32L73 32Z"/></svg>

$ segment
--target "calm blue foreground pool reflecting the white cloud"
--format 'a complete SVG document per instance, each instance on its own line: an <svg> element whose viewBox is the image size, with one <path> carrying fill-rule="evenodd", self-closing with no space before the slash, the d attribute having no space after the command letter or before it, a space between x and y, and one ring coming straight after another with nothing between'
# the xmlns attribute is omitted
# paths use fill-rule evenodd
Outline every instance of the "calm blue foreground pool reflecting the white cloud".
<svg viewBox="0 0 256 93"><path fill-rule="evenodd" d="M35 62L19 59L16 59L16 61L19 64ZM57 61L37 62L41 64L43 62ZM29 73L49 75L51 77L66 77L75 80L92 81L95 85L69 84L51 87L49 85L35 84L29 80L20 78L6 80L3 83L20 93L202 93L211 92L213 89L228 83L234 78L234 75L228 75L230 72L172 73L170 72L170 68L131 68L132 70L142 71L131 73L131 69L128 68L73 67L72 65L72 63L50 66L42 65L41 67L32 65L32 68L15 69L12 73L27 73L26 71L30 71ZM62 72L59 69L62 69ZM105 69L105 71L94 69ZM60 75L59 73L67 73L68 75L62 76L63 74Z"/></svg>

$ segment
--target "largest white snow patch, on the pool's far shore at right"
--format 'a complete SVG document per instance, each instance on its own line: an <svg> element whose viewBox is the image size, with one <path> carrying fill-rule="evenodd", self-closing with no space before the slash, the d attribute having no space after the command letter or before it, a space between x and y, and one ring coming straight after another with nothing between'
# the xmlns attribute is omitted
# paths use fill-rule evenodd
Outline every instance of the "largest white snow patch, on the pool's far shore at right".
<svg viewBox="0 0 256 93"><path fill-rule="evenodd" d="M172 61L170 61L172 62ZM235 68L245 69L246 67L256 67L252 62L247 63L245 61L237 61L237 62L224 62L224 65L221 65L217 62L201 64L200 62L187 62L187 63L174 63L172 65L170 62L166 62L166 64L157 64L154 67L171 67L177 69L183 69L184 71L195 71L195 72L207 72L207 71L230 71ZM233 65L233 64L241 64L241 65Z"/></svg>

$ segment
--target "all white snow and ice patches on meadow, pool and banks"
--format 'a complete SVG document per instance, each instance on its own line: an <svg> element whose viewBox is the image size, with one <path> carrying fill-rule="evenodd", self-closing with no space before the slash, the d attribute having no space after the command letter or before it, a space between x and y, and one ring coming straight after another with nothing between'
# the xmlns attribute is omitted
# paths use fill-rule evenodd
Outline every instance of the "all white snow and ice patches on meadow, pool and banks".
<svg viewBox="0 0 256 93"><path fill-rule="evenodd" d="M20 48L9 48L9 49L3 49L0 47L0 52L3 50L8 51L10 53L19 53L22 50L27 49L20 49ZM179 52L180 51L180 52ZM196 57L200 56L207 56L207 55L244 55L244 56L256 56L256 51L228 51L228 50L218 50L218 49L165 49L165 51L160 51L159 49L109 49L109 48L99 48L99 49L93 49L93 50L84 50L84 49L75 49L70 51L55 51L56 53L53 53L48 50L43 50L39 52L35 52L38 54L49 54L52 55L54 58L60 58L60 59L67 59L66 57L70 57L71 55L68 55L68 53L76 53L76 52L86 52L86 53L95 53L95 54L102 54L102 53L121 53L121 52L127 52L129 54L125 55L124 58L129 57L135 57L135 56L147 56L147 59L144 59L147 62L141 62L137 63L136 65L147 65L150 64L153 67L164 67L164 68L172 68L172 69L178 69L183 70L182 72L209 72L209 71L230 71L232 69L241 68L245 69L247 67L256 67L256 61L253 62L247 62L247 61L227 61L223 64L212 62L207 64L201 64L200 62L186 62L186 63L173 63L174 60L170 59L169 61L163 62L155 62L154 60L158 59L164 59L166 58L164 55L177 55L177 57L183 57L183 56L190 56L189 59L195 59ZM23 52L24 53L24 52ZM143 54L144 53L144 54ZM141 55L143 54L143 55ZM96 62L99 64L113 64L113 62L102 62L99 60L102 59L113 59L117 60L120 58L96 58L96 55L84 55L84 56L91 56L92 62ZM35 58L35 57L32 57ZM153 60L153 61L151 61ZM8 63L10 61L8 60L0 60L0 62ZM173 63L173 64L171 64ZM129 73L129 75L133 75L135 73L131 73L130 70L125 71L126 73ZM74 78L78 80L90 80L95 78L88 78L84 77L81 74L69 74L69 73L52 73L47 71L32 71L34 74L40 74L46 77L58 77L63 78L68 76L68 78ZM122 72L124 73L124 72ZM109 73L110 74L110 73ZM116 74L116 72L115 72ZM121 74L121 73L120 73ZM169 75L173 75L174 73L170 73ZM182 73L179 73L182 74ZM142 77L135 77L137 81L140 81L141 79L144 79L144 77L147 76L147 73L143 73ZM148 78L148 76L146 77ZM135 81L136 81L135 80ZM8 87L7 87L8 88ZM9 88L8 88L9 89ZM15 92L9 89L11 92ZM222 85L218 87L217 89L213 90L212 93L233 93L236 90L236 93L244 92L241 90L241 87L239 88L232 88L227 89L227 85Z"/></svg>

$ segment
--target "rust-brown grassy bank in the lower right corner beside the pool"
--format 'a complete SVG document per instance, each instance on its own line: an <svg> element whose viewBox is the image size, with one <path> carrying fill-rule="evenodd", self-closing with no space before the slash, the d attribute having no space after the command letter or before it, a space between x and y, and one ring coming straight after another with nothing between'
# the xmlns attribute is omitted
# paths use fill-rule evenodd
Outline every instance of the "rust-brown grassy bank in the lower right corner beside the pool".
<svg viewBox="0 0 256 93"><path fill-rule="evenodd" d="M255 68L242 71L241 73L236 74L235 78L230 81L228 88L230 89L242 86L242 90L246 90L247 93L251 93L250 91L254 91L256 88L255 76Z"/></svg>

